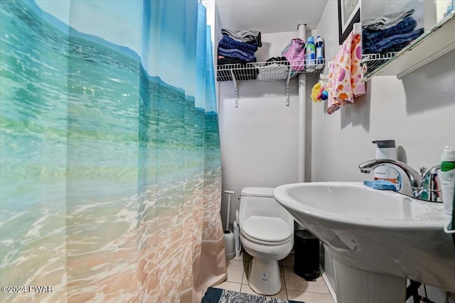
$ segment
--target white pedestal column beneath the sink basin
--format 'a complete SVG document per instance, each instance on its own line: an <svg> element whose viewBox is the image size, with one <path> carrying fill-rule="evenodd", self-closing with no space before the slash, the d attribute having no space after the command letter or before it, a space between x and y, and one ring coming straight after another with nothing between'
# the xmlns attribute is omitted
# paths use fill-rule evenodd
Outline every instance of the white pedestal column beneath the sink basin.
<svg viewBox="0 0 455 303"><path fill-rule="evenodd" d="M368 272L332 260L337 303L405 302L406 278Z"/></svg>

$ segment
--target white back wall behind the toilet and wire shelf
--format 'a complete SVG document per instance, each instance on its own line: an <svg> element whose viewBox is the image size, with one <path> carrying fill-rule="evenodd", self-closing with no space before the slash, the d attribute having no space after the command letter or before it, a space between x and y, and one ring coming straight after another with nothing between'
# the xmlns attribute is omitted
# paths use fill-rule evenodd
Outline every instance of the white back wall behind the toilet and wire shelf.
<svg viewBox="0 0 455 303"><path fill-rule="evenodd" d="M262 35L258 61L281 56L281 51L297 32ZM242 187L277 187L297 182L298 87L289 85L286 106L284 80L238 82L238 104L232 82L219 82L219 117L223 191L235 191L231 199L230 224L239 209L237 197ZM228 195L223 194L221 216L225 222Z"/></svg>

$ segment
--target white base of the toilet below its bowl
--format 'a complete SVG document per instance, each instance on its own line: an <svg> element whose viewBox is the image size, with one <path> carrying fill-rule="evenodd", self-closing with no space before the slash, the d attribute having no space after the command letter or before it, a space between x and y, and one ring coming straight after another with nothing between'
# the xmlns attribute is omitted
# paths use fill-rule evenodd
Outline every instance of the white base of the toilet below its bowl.
<svg viewBox="0 0 455 303"><path fill-rule="evenodd" d="M282 290L282 278L277 260L253 258L248 284L258 294L272 295Z"/></svg>

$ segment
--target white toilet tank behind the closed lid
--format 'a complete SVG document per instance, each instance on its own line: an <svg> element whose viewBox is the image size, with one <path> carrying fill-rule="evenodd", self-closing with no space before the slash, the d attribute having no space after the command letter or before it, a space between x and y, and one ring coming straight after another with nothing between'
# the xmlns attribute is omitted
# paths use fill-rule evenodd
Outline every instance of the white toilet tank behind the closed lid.
<svg viewBox="0 0 455 303"><path fill-rule="evenodd" d="M294 228L294 219L273 197L272 187L243 187L240 193L241 225L250 216L281 218Z"/></svg>

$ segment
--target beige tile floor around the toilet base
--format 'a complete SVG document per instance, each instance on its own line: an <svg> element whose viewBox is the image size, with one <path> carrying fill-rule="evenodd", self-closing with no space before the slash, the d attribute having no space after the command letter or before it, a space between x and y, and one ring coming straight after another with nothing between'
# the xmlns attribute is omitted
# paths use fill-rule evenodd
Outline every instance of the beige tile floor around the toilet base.
<svg viewBox="0 0 455 303"><path fill-rule="evenodd" d="M215 287L255 294L248 285L245 275L245 268L247 268L247 263L250 260L251 257L245 253L242 253L239 258L228 260L228 280ZM282 290L272 297L304 301L306 303L334 303L322 276L317 278L316 281L306 281L303 277L299 277L294 273L293 254L279 261L279 265L282 274Z"/></svg>

